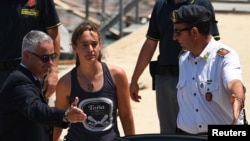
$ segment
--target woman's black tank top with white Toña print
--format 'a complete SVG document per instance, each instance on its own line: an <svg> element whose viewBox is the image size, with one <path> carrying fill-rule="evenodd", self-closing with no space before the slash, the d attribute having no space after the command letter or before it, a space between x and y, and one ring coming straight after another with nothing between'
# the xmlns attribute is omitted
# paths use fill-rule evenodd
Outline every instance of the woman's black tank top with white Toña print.
<svg viewBox="0 0 250 141"><path fill-rule="evenodd" d="M117 127L117 95L107 65L102 62L104 84L97 92L82 89L77 80L76 67L71 70L70 103L79 97L78 107L88 118L84 123L72 123L66 135L67 141L111 141L120 136Z"/></svg>

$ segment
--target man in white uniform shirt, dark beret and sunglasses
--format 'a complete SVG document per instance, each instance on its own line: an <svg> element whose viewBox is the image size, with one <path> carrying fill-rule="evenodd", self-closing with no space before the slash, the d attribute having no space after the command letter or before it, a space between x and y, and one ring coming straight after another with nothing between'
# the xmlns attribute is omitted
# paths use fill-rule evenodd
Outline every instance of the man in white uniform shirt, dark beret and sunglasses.
<svg viewBox="0 0 250 141"><path fill-rule="evenodd" d="M209 33L211 13L198 5L173 11L179 56L177 133L207 134L208 125L239 124L245 99L238 54Z"/></svg>

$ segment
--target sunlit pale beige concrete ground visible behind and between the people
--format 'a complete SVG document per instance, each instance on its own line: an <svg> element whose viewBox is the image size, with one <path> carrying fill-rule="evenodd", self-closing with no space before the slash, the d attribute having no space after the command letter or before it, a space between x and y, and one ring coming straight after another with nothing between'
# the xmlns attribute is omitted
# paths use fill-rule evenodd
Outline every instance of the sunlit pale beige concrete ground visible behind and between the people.
<svg viewBox="0 0 250 141"><path fill-rule="evenodd" d="M216 19L218 20L221 36L220 41L235 49L240 56L243 70L243 80L247 88L245 101L246 116L247 120L250 121L250 96L248 94L248 89L250 89L250 14L216 13ZM104 55L106 56L106 60L104 61L124 68L129 81L133 73L139 51L145 40L147 26L147 24L142 26L133 33L105 48ZM157 54L158 52L155 52L153 60L156 59ZM73 67L74 64L60 65L59 75L62 76ZM148 67L143 72L139 82L141 85L145 86L145 88L139 93L142 96L142 100L140 103L131 101L136 134L159 133L155 92L151 90L152 83ZM119 129L121 135L123 136L124 134L120 123ZM67 130L63 131L61 139L66 134L66 131Z"/></svg>

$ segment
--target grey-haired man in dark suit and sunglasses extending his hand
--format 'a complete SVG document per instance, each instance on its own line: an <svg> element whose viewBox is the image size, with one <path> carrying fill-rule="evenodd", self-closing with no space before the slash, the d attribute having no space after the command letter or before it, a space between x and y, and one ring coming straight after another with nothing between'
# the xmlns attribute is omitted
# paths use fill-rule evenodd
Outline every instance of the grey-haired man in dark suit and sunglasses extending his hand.
<svg viewBox="0 0 250 141"><path fill-rule="evenodd" d="M52 38L30 31L23 38L22 60L0 91L1 141L50 141L52 126L66 128L70 122L84 122L86 115L75 105L67 110L49 107L39 79L53 65L57 54Z"/></svg>

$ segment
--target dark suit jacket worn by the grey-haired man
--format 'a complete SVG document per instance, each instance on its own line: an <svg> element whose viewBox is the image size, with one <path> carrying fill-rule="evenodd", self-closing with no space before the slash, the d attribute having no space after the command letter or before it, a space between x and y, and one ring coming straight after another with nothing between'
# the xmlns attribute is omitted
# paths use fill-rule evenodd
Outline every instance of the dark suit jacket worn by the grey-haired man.
<svg viewBox="0 0 250 141"><path fill-rule="evenodd" d="M64 113L48 106L40 84L20 65L0 91L0 141L49 141L52 126L68 126Z"/></svg>

